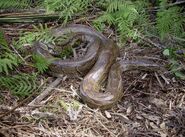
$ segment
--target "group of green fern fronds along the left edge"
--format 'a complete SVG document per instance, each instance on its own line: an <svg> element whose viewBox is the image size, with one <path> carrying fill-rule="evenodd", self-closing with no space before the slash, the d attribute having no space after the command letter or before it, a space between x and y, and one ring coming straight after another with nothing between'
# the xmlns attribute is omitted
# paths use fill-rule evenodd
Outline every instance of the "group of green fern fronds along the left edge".
<svg viewBox="0 0 185 137"><path fill-rule="evenodd" d="M0 31L0 46L0 90L8 89L22 98L28 96L37 88L36 73L24 74L16 70L23 62L9 47L3 31Z"/></svg>

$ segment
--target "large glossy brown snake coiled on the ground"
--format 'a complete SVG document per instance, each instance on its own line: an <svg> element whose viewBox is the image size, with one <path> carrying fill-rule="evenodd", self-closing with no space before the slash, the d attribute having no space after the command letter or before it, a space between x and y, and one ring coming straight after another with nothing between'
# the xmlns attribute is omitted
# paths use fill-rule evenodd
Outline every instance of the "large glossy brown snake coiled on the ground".
<svg viewBox="0 0 185 137"><path fill-rule="evenodd" d="M88 43L86 55L76 60L54 60L50 65L50 71L55 75L85 75L78 94L92 108L109 109L123 97L122 72L133 69L159 69L158 65L145 61L116 61L119 55L117 45L88 26L75 24L52 30L56 37L71 32L81 35L82 41ZM42 44L35 42L34 52L48 59L54 58L49 51L42 48ZM105 92L100 92L107 78Z"/></svg>

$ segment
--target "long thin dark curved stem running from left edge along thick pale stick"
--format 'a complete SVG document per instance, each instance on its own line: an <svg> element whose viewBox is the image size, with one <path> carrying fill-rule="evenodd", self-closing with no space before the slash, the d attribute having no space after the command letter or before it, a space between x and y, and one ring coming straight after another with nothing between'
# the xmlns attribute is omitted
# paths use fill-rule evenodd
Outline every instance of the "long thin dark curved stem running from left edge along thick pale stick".
<svg viewBox="0 0 185 137"><path fill-rule="evenodd" d="M47 81L47 80L46 80ZM45 81L45 82L46 82ZM2 119L5 116L8 116L9 114L11 114L12 112L14 112L17 108L21 107L22 105L24 105L28 100L30 100L39 90L40 88L44 85L43 82L30 96L28 96L27 98L25 98L22 102L20 102L17 106L15 106L14 108L12 108L11 110L9 110L8 112L0 115L0 119Z"/></svg>

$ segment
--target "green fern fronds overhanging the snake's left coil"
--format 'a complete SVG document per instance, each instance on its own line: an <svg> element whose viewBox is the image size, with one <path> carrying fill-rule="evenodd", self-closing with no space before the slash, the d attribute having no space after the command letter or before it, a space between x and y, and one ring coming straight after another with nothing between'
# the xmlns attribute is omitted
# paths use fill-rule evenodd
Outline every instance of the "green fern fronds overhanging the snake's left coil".
<svg viewBox="0 0 185 137"><path fill-rule="evenodd" d="M60 45L63 41L66 40L66 36L55 37L51 35L51 28L47 26L47 24L42 25L39 24L38 26L33 25L34 32L24 32L21 33L19 40L14 43L14 46L18 50L25 49L25 46L33 46L35 41L40 41L44 43L42 48L44 50L49 50L50 53L55 52L56 50L60 50L61 47L56 48L54 45ZM63 51L60 53L59 57L64 58L66 56L71 55L72 48L63 48ZM49 65L52 59L46 59L41 55L32 54L33 59L33 67L35 67L39 73L44 73L48 70Z"/></svg>

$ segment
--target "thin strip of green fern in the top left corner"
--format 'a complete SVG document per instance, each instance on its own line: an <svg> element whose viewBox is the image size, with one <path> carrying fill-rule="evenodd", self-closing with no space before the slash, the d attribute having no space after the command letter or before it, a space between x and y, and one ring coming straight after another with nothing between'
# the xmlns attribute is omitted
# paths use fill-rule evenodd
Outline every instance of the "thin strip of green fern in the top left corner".
<svg viewBox="0 0 185 137"><path fill-rule="evenodd" d="M29 4L29 0L1 0L0 9L27 8Z"/></svg>

